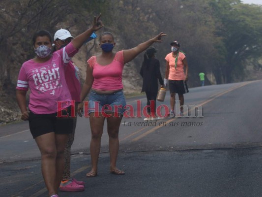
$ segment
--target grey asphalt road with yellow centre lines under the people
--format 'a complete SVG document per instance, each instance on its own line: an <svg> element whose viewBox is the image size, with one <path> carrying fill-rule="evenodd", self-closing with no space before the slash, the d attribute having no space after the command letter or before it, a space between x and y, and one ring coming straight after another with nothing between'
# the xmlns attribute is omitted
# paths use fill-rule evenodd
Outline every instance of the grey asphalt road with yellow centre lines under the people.
<svg viewBox="0 0 262 197"><path fill-rule="evenodd" d="M85 177L90 169L89 120L78 118L71 171L86 182L86 190L59 196L261 197L261 87L260 80L192 88L185 95L187 118L123 118L117 161L126 172L122 176L109 173L105 130L98 176ZM142 107L146 103L145 96L127 103L135 106L136 100ZM169 95L160 104L169 106ZM192 117L197 105L203 113ZM0 196L47 197L27 122L0 127L0 150Z"/></svg>

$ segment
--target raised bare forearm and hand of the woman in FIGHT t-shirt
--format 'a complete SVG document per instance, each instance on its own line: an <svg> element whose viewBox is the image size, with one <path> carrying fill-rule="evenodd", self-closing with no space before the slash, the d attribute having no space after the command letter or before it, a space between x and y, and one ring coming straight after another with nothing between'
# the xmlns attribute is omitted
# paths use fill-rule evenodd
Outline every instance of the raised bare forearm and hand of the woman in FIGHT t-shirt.
<svg viewBox="0 0 262 197"><path fill-rule="evenodd" d="M103 27L102 21L100 21L101 14L94 17L93 25L86 32L79 34L72 40L72 44L76 49L79 49L90 35Z"/></svg>

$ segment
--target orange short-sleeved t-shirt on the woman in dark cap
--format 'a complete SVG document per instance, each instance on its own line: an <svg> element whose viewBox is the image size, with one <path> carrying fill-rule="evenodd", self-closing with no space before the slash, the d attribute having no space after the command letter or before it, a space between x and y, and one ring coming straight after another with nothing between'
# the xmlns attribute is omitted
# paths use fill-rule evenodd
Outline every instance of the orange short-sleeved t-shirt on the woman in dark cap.
<svg viewBox="0 0 262 197"><path fill-rule="evenodd" d="M172 55L173 53L169 53L165 60L169 62L169 76L168 79L170 80L185 80L185 72L184 72L184 65L183 60L186 57L182 52L179 52L176 69L175 69L175 58Z"/></svg>

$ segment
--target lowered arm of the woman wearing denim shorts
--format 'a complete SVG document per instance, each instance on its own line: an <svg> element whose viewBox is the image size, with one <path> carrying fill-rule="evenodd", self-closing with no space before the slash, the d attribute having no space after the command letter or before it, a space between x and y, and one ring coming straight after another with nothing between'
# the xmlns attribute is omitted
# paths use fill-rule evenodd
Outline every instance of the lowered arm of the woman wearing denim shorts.
<svg viewBox="0 0 262 197"><path fill-rule="evenodd" d="M87 94L89 93L92 87L93 81L94 81L93 69L87 63L87 76L81 91L81 96L80 96L81 102L78 104L78 114L80 117L82 117L82 112L83 112L83 101L87 97Z"/></svg>

